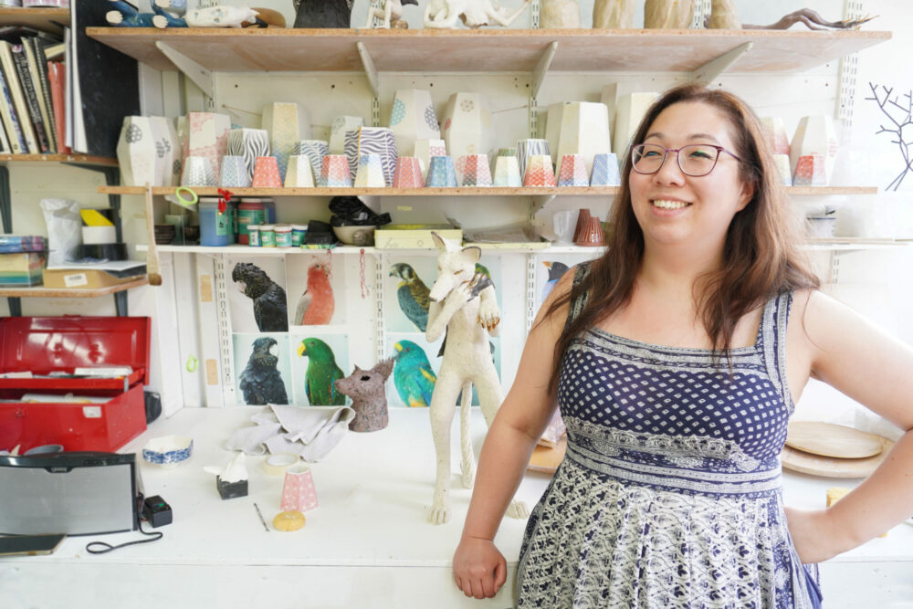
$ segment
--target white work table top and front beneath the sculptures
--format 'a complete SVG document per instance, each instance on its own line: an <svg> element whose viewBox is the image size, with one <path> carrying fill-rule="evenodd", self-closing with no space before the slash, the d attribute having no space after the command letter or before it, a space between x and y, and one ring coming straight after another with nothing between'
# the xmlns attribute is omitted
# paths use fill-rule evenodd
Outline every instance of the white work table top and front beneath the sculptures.
<svg viewBox="0 0 913 609"><path fill-rule="evenodd" d="M233 453L222 448L258 409L185 408L153 423L123 452L139 452L150 437L194 438L194 455L173 469L150 466L138 456L147 496L161 495L173 523L159 528L161 541L110 554L85 551L89 541L112 545L141 538L138 531L72 537L48 556L0 559L3 607L509 607L525 521L505 519L498 548L508 559L508 584L494 599L467 599L452 582L450 562L462 529L470 491L459 486L453 455L453 517L429 524L426 514L435 478L434 446L426 409L392 409L390 425L372 434L348 434L313 465L320 508L307 512L298 531L273 530L281 477L248 457L249 495L222 500L215 477L203 467L223 467ZM454 446L459 446L457 421ZM474 413L473 436L481 446L485 424ZM825 489L853 486L786 474L787 502L824 504ZM549 477L528 473L519 498L532 505ZM269 531L257 517L257 503ZM144 523L144 528L148 525ZM913 527L901 525L822 565L828 607L913 607ZM906 603L904 603L906 601Z"/></svg>

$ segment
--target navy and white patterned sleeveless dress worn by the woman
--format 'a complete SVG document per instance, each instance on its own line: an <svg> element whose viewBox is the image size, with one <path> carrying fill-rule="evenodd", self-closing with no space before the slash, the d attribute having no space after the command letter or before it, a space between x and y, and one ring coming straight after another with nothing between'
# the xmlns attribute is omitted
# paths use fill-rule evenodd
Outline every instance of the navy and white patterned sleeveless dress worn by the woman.
<svg viewBox="0 0 913 609"><path fill-rule="evenodd" d="M527 525L519 607L820 606L781 493L791 302L766 304L731 380L706 349L596 328L572 343L558 386L567 455Z"/></svg>

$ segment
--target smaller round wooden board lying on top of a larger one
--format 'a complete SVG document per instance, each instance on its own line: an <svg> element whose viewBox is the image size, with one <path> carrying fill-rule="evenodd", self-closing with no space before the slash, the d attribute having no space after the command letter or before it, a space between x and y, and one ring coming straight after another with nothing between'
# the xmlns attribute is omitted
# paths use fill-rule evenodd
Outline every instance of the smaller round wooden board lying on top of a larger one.
<svg viewBox="0 0 913 609"><path fill-rule="evenodd" d="M845 425L796 421L789 425L786 446L821 457L859 459L878 455L883 439Z"/></svg>

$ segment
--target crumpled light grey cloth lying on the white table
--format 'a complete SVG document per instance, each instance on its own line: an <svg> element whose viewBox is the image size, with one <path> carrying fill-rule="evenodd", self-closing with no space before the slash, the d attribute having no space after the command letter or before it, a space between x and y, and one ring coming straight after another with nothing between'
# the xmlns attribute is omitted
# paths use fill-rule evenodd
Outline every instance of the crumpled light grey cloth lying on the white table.
<svg viewBox="0 0 913 609"><path fill-rule="evenodd" d="M247 455L295 453L306 461L318 461L339 444L353 418L355 411L349 406L328 410L269 404L268 410L250 417L257 425L238 429L226 447Z"/></svg>

